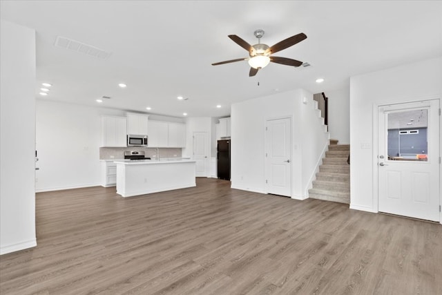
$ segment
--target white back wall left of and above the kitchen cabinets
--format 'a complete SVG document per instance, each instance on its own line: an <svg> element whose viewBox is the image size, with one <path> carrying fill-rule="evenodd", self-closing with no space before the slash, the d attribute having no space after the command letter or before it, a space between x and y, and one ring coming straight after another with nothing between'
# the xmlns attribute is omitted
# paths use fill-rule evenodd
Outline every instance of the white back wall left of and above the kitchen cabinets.
<svg viewBox="0 0 442 295"><path fill-rule="evenodd" d="M36 191L100 185L102 115L126 117L126 111L37 99ZM160 115L149 118L183 122L180 118Z"/></svg>

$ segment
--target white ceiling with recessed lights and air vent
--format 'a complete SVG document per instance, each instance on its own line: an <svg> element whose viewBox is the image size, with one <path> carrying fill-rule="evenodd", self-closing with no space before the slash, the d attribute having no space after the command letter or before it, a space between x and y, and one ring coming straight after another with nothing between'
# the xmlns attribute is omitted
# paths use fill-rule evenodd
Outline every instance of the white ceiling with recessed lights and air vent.
<svg viewBox="0 0 442 295"><path fill-rule="evenodd" d="M1 19L37 32L37 82L53 84L44 99L97 105L106 95L102 106L175 117L226 116L232 103L276 91L327 94L353 75L442 54L442 1L1 0L0 8ZM256 77L247 61L211 66L248 57L227 35L256 44L256 29L269 46L304 32L307 39L276 55L311 66L271 63ZM111 56L59 48L57 36Z"/></svg>

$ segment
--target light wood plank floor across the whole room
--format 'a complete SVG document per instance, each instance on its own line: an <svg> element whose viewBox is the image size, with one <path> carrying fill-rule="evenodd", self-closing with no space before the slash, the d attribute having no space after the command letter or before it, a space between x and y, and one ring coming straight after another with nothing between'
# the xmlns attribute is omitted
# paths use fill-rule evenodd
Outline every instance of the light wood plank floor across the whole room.
<svg viewBox="0 0 442 295"><path fill-rule="evenodd" d="M38 246L0 256L0 294L442 294L441 225L197 184L37 193Z"/></svg>

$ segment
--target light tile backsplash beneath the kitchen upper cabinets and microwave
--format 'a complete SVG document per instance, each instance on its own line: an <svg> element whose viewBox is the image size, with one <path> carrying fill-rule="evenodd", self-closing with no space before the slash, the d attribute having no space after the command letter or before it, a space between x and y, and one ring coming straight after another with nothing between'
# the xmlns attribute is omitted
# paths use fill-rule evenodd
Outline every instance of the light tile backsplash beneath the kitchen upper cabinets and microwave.
<svg viewBox="0 0 442 295"><path fill-rule="evenodd" d="M143 148L139 146L132 147L121 147L121 148L112 148L112 147L100 147L99 148L99 160L111 160L111 159L124 159L124 151L144 151L146 153L146 157L148 158L157 158L157 151L159 153L160 158L181 158L182 157L182 149L180 148Z"/></svg>

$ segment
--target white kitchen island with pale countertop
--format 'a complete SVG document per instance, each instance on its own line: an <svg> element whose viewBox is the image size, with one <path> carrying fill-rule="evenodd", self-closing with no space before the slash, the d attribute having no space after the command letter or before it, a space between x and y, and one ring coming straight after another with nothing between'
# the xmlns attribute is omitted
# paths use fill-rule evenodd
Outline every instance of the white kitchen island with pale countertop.
<svg viewBox="0 0 442 295"><path fill-rule="evenodd" d="M117 164L117 193L123 197L196 187L194 160L122 160Z"/></svg>

